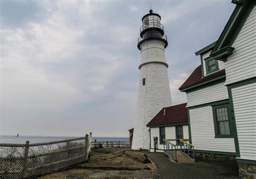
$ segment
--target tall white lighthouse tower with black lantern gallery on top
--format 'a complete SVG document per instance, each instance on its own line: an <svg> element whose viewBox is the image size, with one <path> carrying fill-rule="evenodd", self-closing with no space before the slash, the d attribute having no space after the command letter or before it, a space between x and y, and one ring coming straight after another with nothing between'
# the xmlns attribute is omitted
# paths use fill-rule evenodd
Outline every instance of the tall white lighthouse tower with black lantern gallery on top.
<svg viewBox="0 0 256 179"><path fill-rule="evenodd" d="M172 105L165 48L168 45L161 17L149 11L142 18L138 48L141 51L139 88L132 149L150 149L147 123L164 107Z"/></svg>

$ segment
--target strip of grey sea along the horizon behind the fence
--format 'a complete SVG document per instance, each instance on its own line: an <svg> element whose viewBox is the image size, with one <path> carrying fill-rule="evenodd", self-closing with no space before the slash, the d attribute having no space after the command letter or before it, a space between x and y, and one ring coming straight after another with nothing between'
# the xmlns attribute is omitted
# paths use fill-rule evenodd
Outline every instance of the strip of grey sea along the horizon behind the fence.
<svg viewBox="0 0 256 179"><path fill-rule="evenodd" d="M80 136L82 137L82 136ZM64 140L71 139L76 137L54 137L54 136L11 136L11 135L0 135L0 143L12 143L12 144L25 144L27 140L30 141L30 144L39 143L39 142L49 142L55 140ZM129 142L129 138L118 138L118 137L92 137L92 141L97 139L100 141L124 141Z"/></svg>

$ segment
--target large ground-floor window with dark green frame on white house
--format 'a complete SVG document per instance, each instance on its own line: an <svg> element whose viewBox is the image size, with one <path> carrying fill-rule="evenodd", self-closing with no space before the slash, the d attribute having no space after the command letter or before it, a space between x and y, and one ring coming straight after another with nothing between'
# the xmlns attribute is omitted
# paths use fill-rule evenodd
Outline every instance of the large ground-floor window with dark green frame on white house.
<svg viewBox="0 0 256 179"><path fill-rule="evenodd" d="M228 117L228 104L213 106L213 119L215 138L232 137Z"/></svg>

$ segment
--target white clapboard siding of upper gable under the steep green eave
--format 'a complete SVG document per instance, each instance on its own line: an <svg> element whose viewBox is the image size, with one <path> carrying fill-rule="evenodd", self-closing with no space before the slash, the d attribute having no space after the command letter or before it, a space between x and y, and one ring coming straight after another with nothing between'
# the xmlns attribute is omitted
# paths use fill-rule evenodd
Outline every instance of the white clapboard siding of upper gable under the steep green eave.
<svg viewBox="0 0 256 179"><path fill-rule="evenodd" d="M256 6L234 40L233 54L225 62L226 82L231 84L256 76Z"/></svg>

